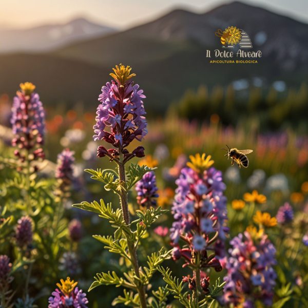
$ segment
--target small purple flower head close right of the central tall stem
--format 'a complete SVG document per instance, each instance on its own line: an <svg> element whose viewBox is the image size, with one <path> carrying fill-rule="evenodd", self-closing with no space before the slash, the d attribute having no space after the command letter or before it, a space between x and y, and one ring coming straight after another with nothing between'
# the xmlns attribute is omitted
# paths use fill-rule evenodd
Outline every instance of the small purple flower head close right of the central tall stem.
<svg viewBox="0 0 308 308"><path fill-rule="evenodd" d="M141 208L156 206L158 198L156 176L153 171L146 172L142 179L136 184L137 203Z"/></svg>

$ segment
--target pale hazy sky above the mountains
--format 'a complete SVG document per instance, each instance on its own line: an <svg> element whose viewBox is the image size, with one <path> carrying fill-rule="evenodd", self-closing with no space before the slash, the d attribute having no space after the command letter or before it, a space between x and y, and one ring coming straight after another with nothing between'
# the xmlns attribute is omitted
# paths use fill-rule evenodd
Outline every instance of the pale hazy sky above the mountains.
<svg viewBox="0 0 308 308"><path fill-rule="evenodd" d="M85 16L127 28L175 7L205 12L229 0L1 0L0 26L30 27ZM308 0L242 0L308 23Z"/></svg>

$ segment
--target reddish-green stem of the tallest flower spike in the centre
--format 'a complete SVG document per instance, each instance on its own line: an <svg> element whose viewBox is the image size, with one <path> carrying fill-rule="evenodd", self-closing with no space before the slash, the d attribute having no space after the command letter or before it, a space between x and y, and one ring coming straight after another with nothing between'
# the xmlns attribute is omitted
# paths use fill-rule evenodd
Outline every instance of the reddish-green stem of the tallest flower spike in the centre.
<svg viewBox="0 0 308 308"><path fill-rule="evenodd" d="M119 179L121 184L125 183L125 165L123 163L123 151L119 149L120 152L120 163L119 163ZM121 189L120 192L120 202L123 212L123 218L126 225L129 225L129 213L128 213L128 196L127 192L124 189ZM146 297L145 297L145 286L140 281L139 273L139 262L137 257L137 248L135 248L134 242L126 237L128 252L130 255L131 264L133 267L134 274L137 276L138 280L136 281L136 287L139 294L140 306L146 308Z"/></svg>

